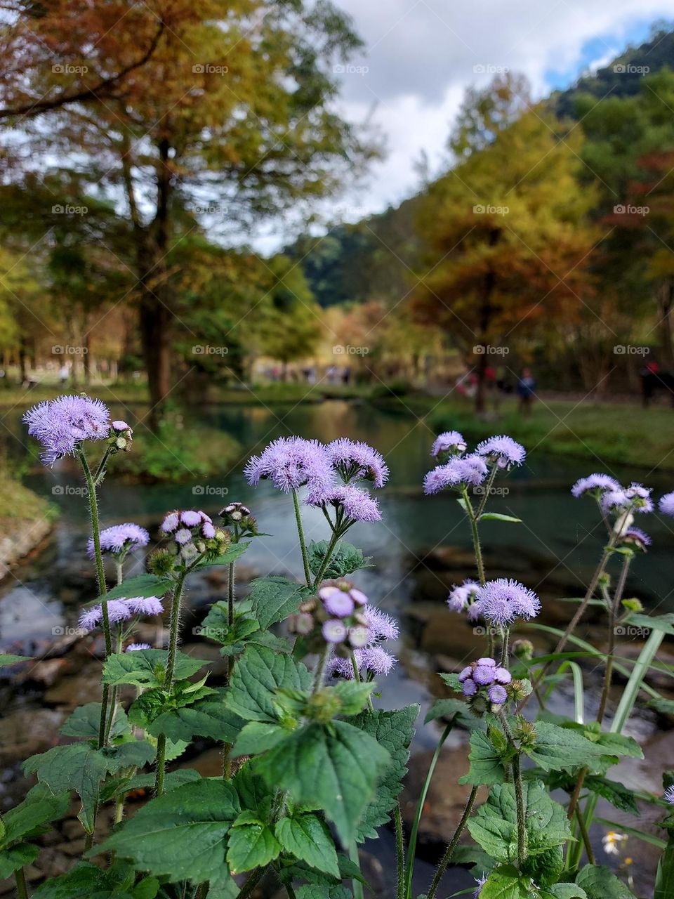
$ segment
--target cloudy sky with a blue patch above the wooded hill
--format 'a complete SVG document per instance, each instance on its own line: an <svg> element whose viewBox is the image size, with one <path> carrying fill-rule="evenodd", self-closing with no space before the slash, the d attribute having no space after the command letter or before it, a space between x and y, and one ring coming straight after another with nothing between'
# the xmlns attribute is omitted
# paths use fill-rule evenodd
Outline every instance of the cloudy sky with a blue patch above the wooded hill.
<svg viewBox="0 0 674 899"><path fill-rule="evenodd" d="M386 158L366 182L333 200L331 218L357 221L397 205L448 160L446 145L466 87L507 67L534 97L606 65L652 23L674 21L674 0L335 0L365 47L336 73L341 111L374 126Z"/></svg>

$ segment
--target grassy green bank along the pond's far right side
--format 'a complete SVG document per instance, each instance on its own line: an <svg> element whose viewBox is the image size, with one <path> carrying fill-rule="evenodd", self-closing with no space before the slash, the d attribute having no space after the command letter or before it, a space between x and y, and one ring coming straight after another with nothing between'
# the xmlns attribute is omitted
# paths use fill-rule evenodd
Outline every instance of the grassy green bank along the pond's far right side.
<svg viewBox="0 0 674 899"><path fill-rule="evenodd" d="M498 413L482 419L460 400L413 394L373 402L423 417L436 432L456 428L473 441L503 432L524 443L529 452L586 458L592 468L605 462L674 471L674 410L666 406L643 409L632 404L546 399L538 400L525 418L518 413L516 400L509 397Z"/></svg>

